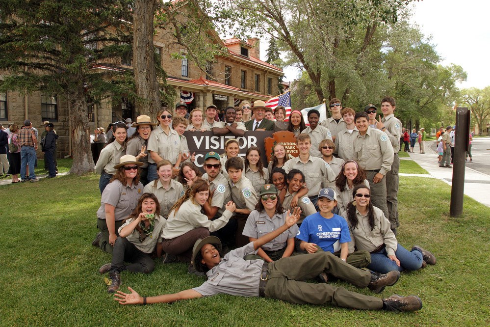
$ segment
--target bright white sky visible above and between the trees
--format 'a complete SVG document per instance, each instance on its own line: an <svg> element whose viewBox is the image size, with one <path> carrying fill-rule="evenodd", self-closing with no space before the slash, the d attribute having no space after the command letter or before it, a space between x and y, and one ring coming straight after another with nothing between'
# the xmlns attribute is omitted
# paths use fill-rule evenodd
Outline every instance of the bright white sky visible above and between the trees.
<svg viewBox="0 0 490 327"><path fill-rule="evenodd" d="M424 35L432 35L432 43L443 58L441 64L460 65L468 74L459 87L489 86L490 1L423 0L413 6L412 22ZM261 50L265 47L261 44ZM284 81L291 82L298 78L299 70L286 67L284 74Z"/></svg>

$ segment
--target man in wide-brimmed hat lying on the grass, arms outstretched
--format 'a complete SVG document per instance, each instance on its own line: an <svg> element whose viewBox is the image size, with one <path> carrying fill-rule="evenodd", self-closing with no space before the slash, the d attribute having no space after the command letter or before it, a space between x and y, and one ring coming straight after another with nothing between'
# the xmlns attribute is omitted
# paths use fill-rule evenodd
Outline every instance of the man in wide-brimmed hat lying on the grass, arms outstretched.
<svg viewBox="0 0 490 327"><path fill-rule="evenodd" d="M201 286L175 294L156 297L141 297L128 287L130 294L117 291L114 300L121 304L170 303L216 294L230 294L247 297L266 297L298 304L324 304L389 311L415 311L422 308L422 301L416 296L392 295L386 299L350 292L343 287L327 283L307 283L303 280L314 278L322 272L344 279L357 287L368 287L374 293L394 285L400 273L393 271L378 274L354 268L330 252L317 252L279 259L271 263L262 260L244 260L247 254L256 254L260 246L272 241L300 218L301 210L296 207L287 212L284 225L245 246L220 256L221 242L217 237L208 236L198 240L193 248L192 263L197 271L207 271L207 281Z"/></svg>

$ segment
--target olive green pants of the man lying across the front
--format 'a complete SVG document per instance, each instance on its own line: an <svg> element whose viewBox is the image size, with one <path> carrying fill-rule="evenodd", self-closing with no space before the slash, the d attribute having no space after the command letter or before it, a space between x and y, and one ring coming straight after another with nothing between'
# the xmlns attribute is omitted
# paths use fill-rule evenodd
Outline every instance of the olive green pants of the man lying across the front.
<svg viewBox="0 0 490 327"><path fill-rule="evenodd" d="M327 283L313 284L303 281L322 272L332 274L360 288L366 287L371 279L371 273L368 271L354 268L330 252L297 255L269 263L265 297L296 304L331 303L363 310L383 308L383 300L379 298L350 292L343 287Z"/></svg>

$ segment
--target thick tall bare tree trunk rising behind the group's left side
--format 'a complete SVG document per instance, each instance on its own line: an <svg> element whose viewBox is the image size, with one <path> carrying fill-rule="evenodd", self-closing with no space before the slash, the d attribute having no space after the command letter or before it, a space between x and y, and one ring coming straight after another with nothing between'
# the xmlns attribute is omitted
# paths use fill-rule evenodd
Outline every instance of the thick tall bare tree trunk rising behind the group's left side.
<svg viewBox="0 0 490 327"><path fill-rule="evenodd" d="M136 0L133 11L133 67L138 114L154 116L160 109L160 94L155 71L153 45L156 0Z"/></svg>

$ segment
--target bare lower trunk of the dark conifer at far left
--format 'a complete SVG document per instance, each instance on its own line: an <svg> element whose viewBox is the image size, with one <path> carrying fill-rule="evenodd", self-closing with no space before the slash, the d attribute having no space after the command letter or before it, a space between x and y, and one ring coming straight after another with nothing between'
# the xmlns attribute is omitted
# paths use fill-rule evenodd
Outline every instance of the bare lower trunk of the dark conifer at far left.
<svg viewBox="0 0 490 327"><path fill-rule="evenodd" d="M72 128L73 164L70 173L78 175L94 171L94 160L90 149L87 103L80 83L77 93L70 95L69 121Z"/></svg>

